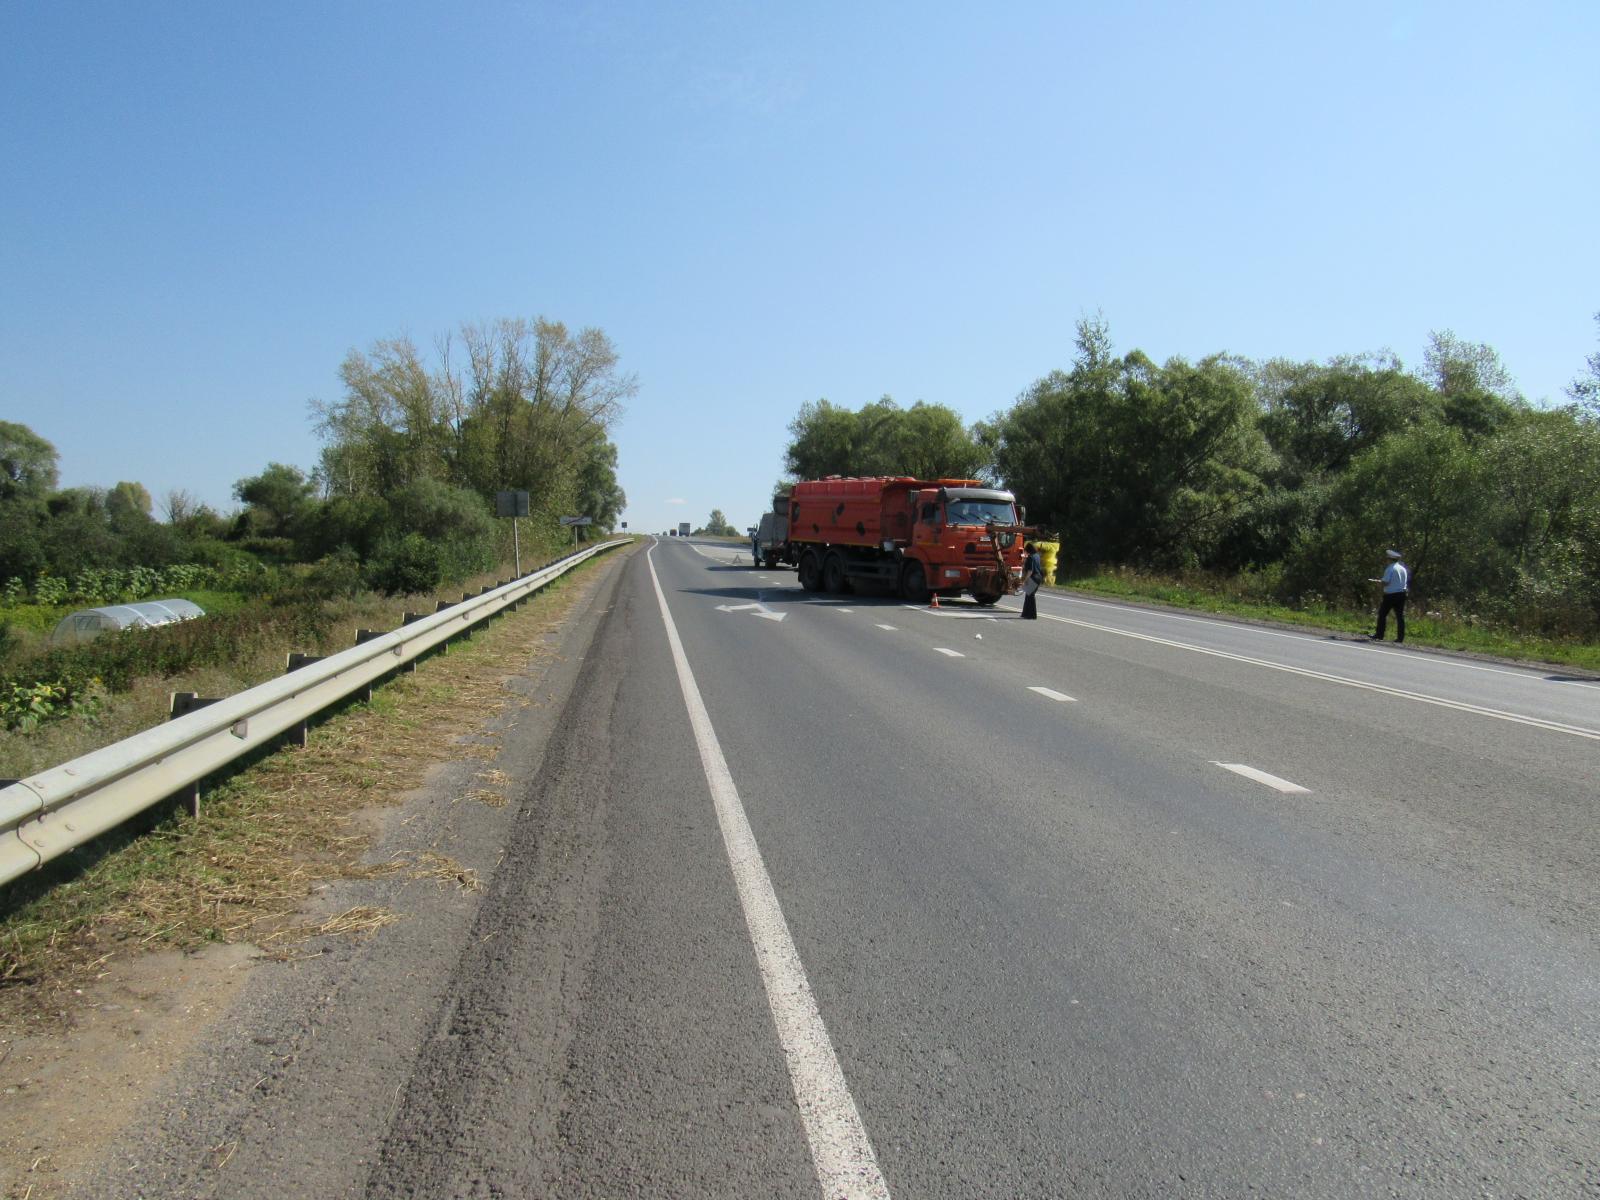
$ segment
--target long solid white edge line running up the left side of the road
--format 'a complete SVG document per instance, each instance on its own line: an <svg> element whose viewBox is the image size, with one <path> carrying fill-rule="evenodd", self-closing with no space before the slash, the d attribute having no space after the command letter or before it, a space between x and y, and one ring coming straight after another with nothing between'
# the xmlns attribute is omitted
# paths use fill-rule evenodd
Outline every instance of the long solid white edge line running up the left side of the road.
<svg viewBox="0 0 1600 1200"><path fill-rule="evenodd" d="M816 1166L818 1182L822 1184L824 1197L888 1200L890 1189L878 1170L867 1130L861 1123L861 1110L850 1094L850 1085L845 1083L845 1072L838 1066L834 1043L822 1024L822 1013L811 994L800 952L789 934L784 910L778 904L778 893L773 891L773 880L766 874L760 846L755 845L755 834L750 832L750 822L744 814L744 803L733 786L728 760L722 754L717 731L712 728L706 702L694 683L694 672L690 670L688 656L678 640L678 627L667 610L667 597L661 590L653 554L654 547L645 554L645 562L650 565L650 581L656 589L656 603L661 605L661 621L667 627L667 643L672 646L678 688L683 691L683 702L690 710L690 725L694 730L701 768L706 771L706 782L710 786L712 802L717 808L717 824L722 827L722 842L728 851L728 864L733 867L739 904L744 909L744 923L750 931L750 942L755 946L755 962L762 971L762 986L766 989L766 1005L773 1011L778 1040L789 1061L789 1082L795 1090L795 1102L800 1106L806 1141L811 1144L811 1162Z"/></svg>

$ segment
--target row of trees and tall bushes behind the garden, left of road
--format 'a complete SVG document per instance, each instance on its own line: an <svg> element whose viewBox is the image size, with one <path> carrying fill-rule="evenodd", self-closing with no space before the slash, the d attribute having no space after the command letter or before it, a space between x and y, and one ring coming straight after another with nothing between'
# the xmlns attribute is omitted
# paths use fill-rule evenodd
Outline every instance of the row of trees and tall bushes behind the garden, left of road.
<svg viewBox="0 0 1600 1200"><path fill-rule="evenodd" d="M610 530L626 504L610 430L638 382L602 330L499 318L432 357L384 339L352 349L339 379L338 400L310 403L317 466L269 462L227 515L174 490L160 522L136 482L59 488L56 448L0 421L0 584L253 560L309 566L334 592L426 592L510 557L498 491L530 493L530 546L562 546L574 512Z"/></svg>

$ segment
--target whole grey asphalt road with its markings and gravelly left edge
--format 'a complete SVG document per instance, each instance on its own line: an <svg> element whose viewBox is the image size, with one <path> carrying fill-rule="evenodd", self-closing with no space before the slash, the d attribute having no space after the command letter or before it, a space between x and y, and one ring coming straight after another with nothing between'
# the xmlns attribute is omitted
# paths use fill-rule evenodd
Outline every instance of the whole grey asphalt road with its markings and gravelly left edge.
<svg viewBox="0 0 1600 1200"><path fill-rule="evenodd" d="M435 818L485 893L261 989L102 1194L1600 1195L1594 680L608 571Z"/></svg>

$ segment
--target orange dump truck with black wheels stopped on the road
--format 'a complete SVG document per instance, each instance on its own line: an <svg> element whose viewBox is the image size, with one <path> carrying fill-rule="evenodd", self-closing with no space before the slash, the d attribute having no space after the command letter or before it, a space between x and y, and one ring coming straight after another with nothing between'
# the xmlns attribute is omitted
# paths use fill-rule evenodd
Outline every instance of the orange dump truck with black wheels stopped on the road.
<svg viewBox="0 0 1600 1200"><path fill-rule="evenodd" d="M979 480L840 478L795 483L784 555L808 592L875 582L926 603L971 592L981 605L1022 586L1022 510Z"/></svg>

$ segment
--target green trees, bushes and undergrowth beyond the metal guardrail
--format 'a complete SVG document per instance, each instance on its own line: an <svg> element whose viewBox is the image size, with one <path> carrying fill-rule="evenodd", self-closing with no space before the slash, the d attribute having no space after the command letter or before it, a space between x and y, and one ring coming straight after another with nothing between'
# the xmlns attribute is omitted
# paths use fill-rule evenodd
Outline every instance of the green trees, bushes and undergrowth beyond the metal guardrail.
<svg viewBox="0 0 1600 1200"><path fill-rule="evenodd" d="M498 491L530 493L525 566L570 549L562 515L592 517L597 536L626 502L608 432L637 384L598 330L499 320L432 360L405 339L352 350L339 374L342 397L314 411L320 461L269 462L229 514L182 490L157 514L134 482L58 488L54 446L0 421L0 774L142 728L157 694L237 691L288 650L397 626L408 597L432 608L510 574ZM168 597L206 618L50 643L75 610Z"/></svg>

